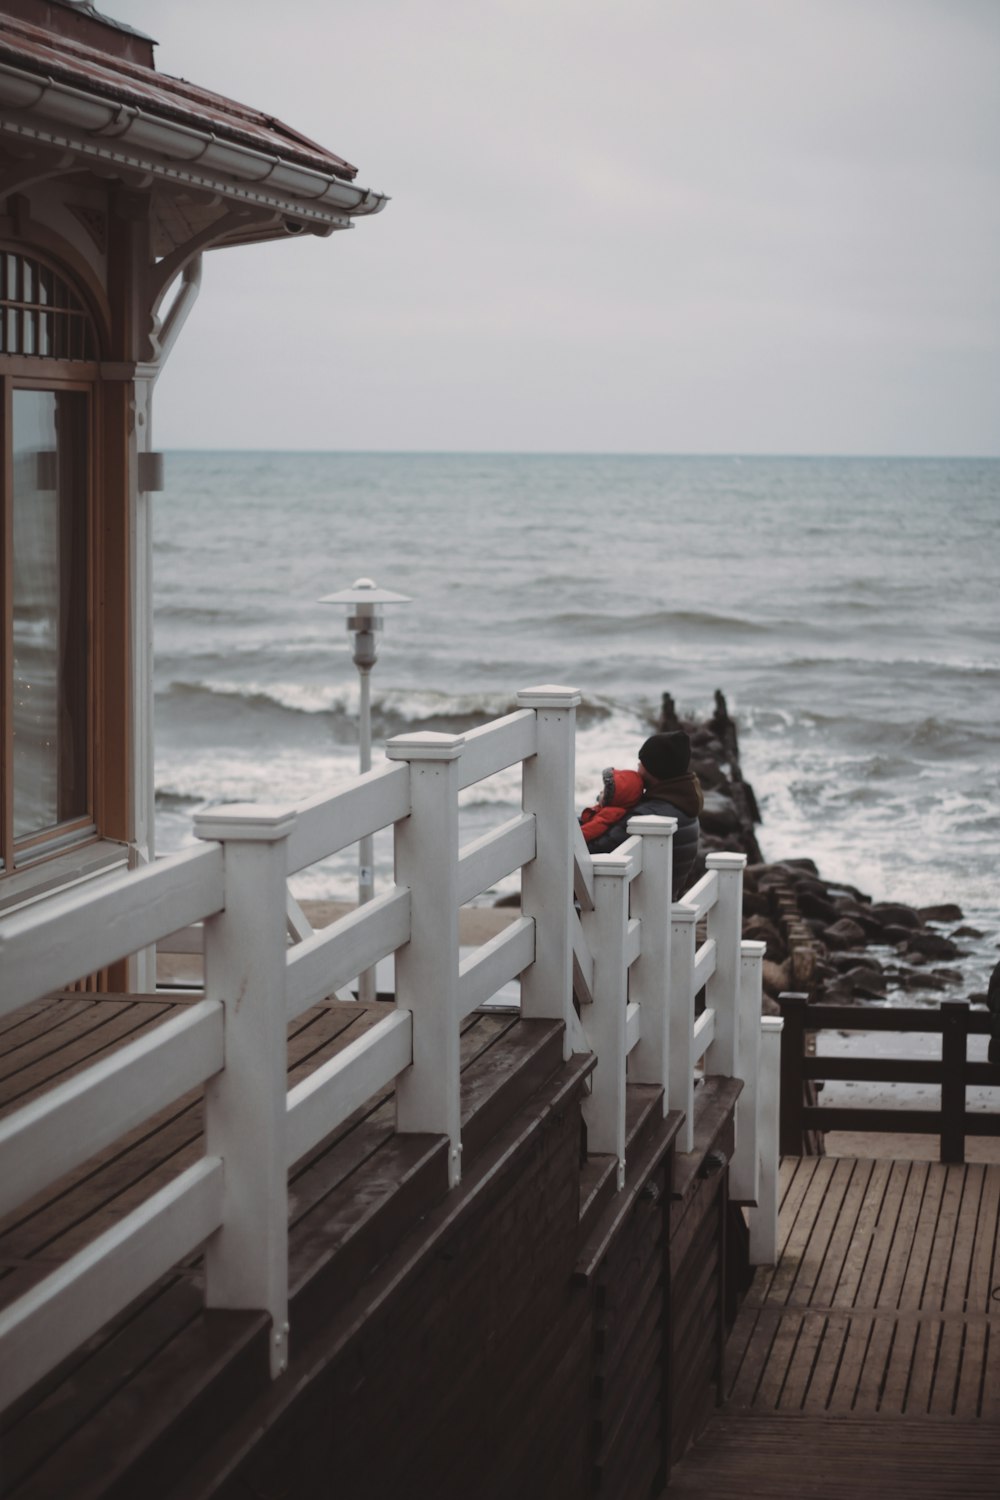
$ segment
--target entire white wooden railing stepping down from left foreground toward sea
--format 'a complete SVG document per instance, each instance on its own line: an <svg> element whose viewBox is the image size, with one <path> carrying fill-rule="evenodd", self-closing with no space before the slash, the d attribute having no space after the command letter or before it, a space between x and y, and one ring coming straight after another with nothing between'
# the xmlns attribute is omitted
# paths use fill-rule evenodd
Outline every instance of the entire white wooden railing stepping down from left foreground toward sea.
<svg viewBox="0 0 1000 1500"><path fill-rule="evenodd" d="M297 810L199 814L201 848L0 920L0 1014L192 922L204 922L205 960L202 1002L0 1124L0 1209L9 1210L205 1088L201 1161L0 1312L0 1407L202 1245L207 1305L267 1311L279 1374L289 1167L394 1086L397 1130L445 1136L457 1184L460 1022L511 980L520 978L522 1016L564 1024L564 1056L597 1053L591 1148L618 1156L621 1180L627 1077L663 1084L664 1108L690 1119L699 1047L712 1071L733 1072L739 1048L739 1065L753 1064L735 994L750 1016L756 993L759 1017L760 957L750 951L759 945L739 945L742 860L711 856L706 880L673 910L672 820L633 819L637 837L591 860L573 810L577 704L571 688L531 688L516 712L466 736L400 735L388 764L345 792ZM522 812L460 849L459 792L513 765ZM388 825L393 886L289 948L288 876ZM462 960L459 908L517 872L520 918ZM699 912L709 938L696 952ZM289 1092L288 1022L390 954L394 1005ZM694 1022L702 982L711 1036L709 1023ZM747 1144L753 1110L747 1119L738 1118L745 1162L735 1164L744 1174L757 1161Z"/></svg>

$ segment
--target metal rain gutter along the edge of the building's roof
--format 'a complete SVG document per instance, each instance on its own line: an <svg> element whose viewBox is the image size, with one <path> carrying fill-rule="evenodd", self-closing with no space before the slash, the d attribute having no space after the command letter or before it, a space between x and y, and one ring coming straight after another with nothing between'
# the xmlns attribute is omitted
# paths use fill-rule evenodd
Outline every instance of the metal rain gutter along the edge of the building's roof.
<svg viewBox="0 0 1000 1500"><path fill-rule="evenodd" d="M345 216L381 213L388 202L385 194L3 62L0 110L6 116L0 120L3 132L343 228ZM27 117L12 118L6 111L24 111ZM39 116L45 124L37 123Z"/></svg>

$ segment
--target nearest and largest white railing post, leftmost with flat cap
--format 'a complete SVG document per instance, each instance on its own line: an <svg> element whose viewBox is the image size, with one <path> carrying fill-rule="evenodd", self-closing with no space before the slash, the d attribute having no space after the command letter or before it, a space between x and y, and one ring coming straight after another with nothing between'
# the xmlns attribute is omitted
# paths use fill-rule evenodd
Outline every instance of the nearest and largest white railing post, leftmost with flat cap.
<svg viewBox="0 0 1000 1500"><path fill-rule="evenodd" d="M205 1152L225 1164L223 1222L205 1245L205 1305L271 1317L271 1378L288 1365L288 1018L285 842L294 812L195 816L225 848L225 910L205 921L205 999L225 1005L225 1066L205 1086Z"/></svg>

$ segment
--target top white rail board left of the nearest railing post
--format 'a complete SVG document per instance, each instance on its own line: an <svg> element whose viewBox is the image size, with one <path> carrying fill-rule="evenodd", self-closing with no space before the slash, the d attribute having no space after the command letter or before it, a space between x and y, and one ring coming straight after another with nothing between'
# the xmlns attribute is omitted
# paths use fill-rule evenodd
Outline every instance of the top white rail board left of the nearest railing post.
<svg viewBox="0 0 1000 1500"><path fill-rule="evenodd" d="M217 912L222 850L186 849L0 918L0 1016Z"/></svg>

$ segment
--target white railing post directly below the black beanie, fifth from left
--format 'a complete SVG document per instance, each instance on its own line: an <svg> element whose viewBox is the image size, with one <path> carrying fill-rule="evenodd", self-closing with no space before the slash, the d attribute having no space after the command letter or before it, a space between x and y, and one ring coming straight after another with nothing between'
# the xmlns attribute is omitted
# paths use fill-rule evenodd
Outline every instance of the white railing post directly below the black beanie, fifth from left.
<svg viewBox="0 0 1000 1500"><path fill-rule="evenodd" d="M628 976L628 998L639 1002L642 1035L628 1058L636 1083L663 1089L663 1113L670 1094L670 888L676 818L633 818L630 834L642 837L642 874L633 884L631 914L642 924L642 950Z"/></svg>

